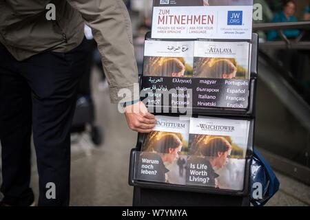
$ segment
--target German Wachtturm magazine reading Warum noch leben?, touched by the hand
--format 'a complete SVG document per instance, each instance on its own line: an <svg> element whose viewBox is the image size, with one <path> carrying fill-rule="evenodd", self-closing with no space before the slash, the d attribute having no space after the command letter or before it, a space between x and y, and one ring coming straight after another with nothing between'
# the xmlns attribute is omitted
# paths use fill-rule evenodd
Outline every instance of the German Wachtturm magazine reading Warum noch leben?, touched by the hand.
<svg viewBox="0 0 310 220"><path fill-rule="evenodd" d="M137 179L185 184L189 118L156 115L154 131L143 139ZM182 169L180 168L182 164Z"/></svg>

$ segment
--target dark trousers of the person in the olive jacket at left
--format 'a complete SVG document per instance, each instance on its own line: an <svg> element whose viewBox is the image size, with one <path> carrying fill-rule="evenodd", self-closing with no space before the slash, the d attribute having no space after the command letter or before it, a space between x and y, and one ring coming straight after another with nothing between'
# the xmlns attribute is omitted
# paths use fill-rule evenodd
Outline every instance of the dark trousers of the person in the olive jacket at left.
<svg viewBox="0 0 310 220"><path fill-rule="evenodd" d="M84 61L84 41L70 52L44 52L25 61L17 61L0 44L4 203L28 206L33 201L29 186L33 132L39 172L39 206L69 205L70 126L76 87L85 72Z"/></svg>

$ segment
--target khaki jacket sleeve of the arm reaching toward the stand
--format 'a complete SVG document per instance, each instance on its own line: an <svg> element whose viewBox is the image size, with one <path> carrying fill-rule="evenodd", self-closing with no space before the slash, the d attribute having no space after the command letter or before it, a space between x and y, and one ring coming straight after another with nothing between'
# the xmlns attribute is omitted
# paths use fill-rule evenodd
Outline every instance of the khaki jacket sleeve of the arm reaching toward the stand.
<svg viewBox="0 0 310 220"><path fill-rule="evenodd" d="M92 29L103 69L110 87L111 102L134 100L134 83L138 69L132 41L132 24L122 0L67 0L78 10ZM120 89L128 89L125 98L118 97ZM129 95L131 92L131 95ZM135 91L138 93L138 91ZM135 97L136 98L136 97Z"/></svg>

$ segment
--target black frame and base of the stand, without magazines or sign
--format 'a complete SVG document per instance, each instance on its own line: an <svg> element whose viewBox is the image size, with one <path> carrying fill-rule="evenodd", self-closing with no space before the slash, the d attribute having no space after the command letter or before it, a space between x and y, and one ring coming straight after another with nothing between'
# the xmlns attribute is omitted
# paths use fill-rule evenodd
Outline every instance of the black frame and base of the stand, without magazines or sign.
<svg viewBox="0 0 310 220"><path fill-rule="evenodd" d="M147 34L146 38L150 36ZM249 206L249 175L254 147L255 95L257 81L258 35L252 34L251 76L249 83L249 107L247 109L192 109L193 117L215 116L248 120L250 122L247 144L245 182L242 191L214 190L201 186L176 186L134 179L136 154L141 151L143 135L138 135L136 148L130 157L129 184L134 186L134 206Z"/></svg>

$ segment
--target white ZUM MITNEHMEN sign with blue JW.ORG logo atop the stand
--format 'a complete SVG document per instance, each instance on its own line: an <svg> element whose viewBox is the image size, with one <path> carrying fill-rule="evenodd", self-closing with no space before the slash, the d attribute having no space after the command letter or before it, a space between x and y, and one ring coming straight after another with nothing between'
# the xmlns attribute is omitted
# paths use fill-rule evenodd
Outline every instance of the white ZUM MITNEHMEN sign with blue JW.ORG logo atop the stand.
<svg viewBox="0 0 310 220"><path fill-rule="evenodd" d="M251 39L253 0L155 0L153 39Z"/></svg>

